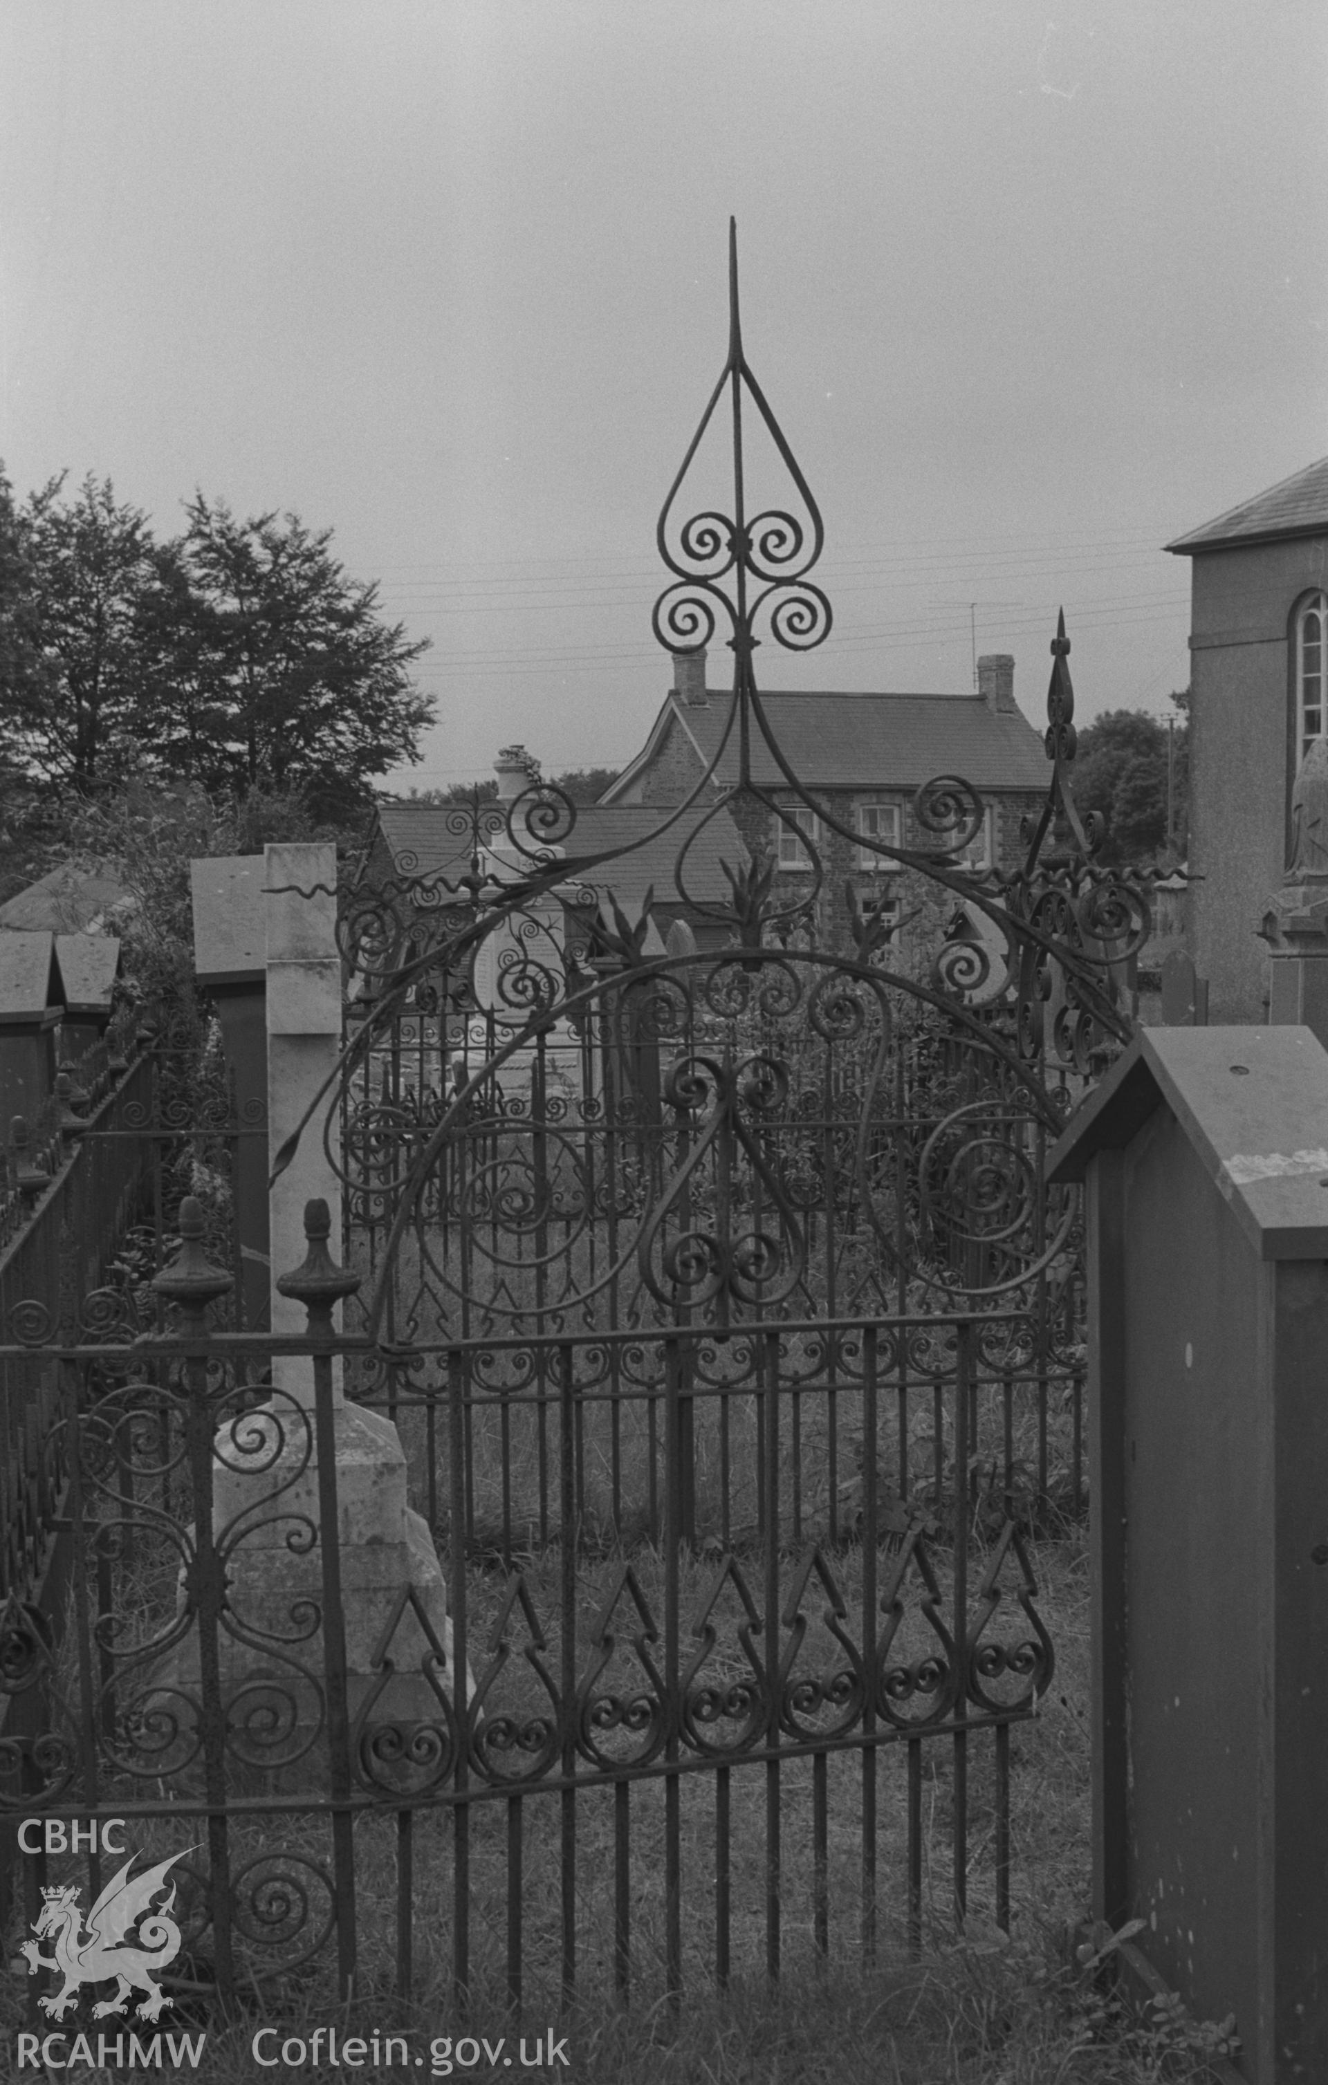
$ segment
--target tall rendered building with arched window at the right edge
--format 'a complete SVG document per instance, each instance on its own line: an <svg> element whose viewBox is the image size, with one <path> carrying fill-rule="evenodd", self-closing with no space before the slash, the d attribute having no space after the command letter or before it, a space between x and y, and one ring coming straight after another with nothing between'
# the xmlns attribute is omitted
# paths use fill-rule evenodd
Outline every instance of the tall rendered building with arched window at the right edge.
<svg viewBox="0 0 1328 2085"><path fill-rule="evenodd" d="M1167 550L1192 569L1190 953L1209 1020L1261 1022L1290 790L1328 740L1328 457Z"/></svg>

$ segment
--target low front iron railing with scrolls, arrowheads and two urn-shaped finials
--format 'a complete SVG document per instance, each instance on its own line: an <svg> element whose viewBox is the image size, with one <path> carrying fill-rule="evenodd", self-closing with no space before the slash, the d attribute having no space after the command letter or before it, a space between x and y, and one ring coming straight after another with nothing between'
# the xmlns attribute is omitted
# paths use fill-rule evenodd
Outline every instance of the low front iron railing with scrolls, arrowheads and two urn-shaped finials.
<svg viewBox="0 0 1328 2085"><path fill-rule="evenodd" d="M365 1353L331 1332L313 1211L286 1284L311 1303L309 1336L208 1332L227 1276L202 1257L194 1207L158 1282L179 1322L148 1349L60 1349L69 1395L46 1453L69 1470L73 1626L54 1645L10 1626L0 1666L0 1687L44 1710L40 1743L0 1741L8 1818L115 1814L144 1854L181 1854L175 1989L298 1983L309 2000L325 1974L331 2002L359 1974L452 2004L678 2000L703 1970L723 1985L849 1947L917 1949L974 1912L1009 1924L1011 1731L1053 1672L1013 1453L1026 1326L765 1328L728 1389L700 1380L709 1334L675 1330L659 1378L613 1395L590 1343L555 1341L548 1541L488 1564L467 1537L467 1472L505 1399L465 1349L440 1349L438 1382L396 1405L407 1439L411 1414L446 1437L448 1622L402 1599L365 1672L348 1564L306 1522L309 1493L317 1524L340 1524L334 1362ZM809 1330L853 1372L838 1397L859 1487L834 1543L807 1499L794 1532L798 1453L832 1397L790 1391ZM273 1353L313 1357L313 1401L252 1389ZM940 1485L915 1470L901 1493L909 1382L936 1422ZM703 1403L734 1489L728 1530L688 1539ZM655 1455L621 1468L640 1539L590 1553L586 1449L605 1407L623 1434L644 1412ZM984 1518L988 1449L1003 1497ZM25 1874L31 1914L54 1881L102 1881L85 1851L42 1851ZM386 1933L363 1922L367 1902L394 1906Z"/></svg>

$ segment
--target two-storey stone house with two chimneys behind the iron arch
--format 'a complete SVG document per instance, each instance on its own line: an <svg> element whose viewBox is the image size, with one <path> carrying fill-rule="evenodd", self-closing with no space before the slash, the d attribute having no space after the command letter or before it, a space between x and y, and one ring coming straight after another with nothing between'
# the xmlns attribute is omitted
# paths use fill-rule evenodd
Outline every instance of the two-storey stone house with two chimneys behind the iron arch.
<svg viewBox="0 0 1328 2085"><path fill-rule="evenodd" d="M738 749L723 730L728 690L707 686L705 651L673 655L673 688L646 744L605 790L600 805L682 803L719 755L709 788L738 780ZM863 840L934 849L915 817L913 794L934 776L963 776L986 805L982 832L965 849L974 872L1015 867L1019 821L1047 794L1047 755L1013 692L1015 663L1007 655L978 661L978 694L821 694L761 692L771 732L803 786ZM773 861L778 894L794 894L811 874L809 836L826 869L813 934L826 947L849 942L846 886L859 909L886 922L909 917L909 878L869 849L823 826L801 805L769 746L753 734L753 780L788 807L792 824L761 803L736 799L734 824L753 857ZM796 830L801 828L801 830Z"/></svg>

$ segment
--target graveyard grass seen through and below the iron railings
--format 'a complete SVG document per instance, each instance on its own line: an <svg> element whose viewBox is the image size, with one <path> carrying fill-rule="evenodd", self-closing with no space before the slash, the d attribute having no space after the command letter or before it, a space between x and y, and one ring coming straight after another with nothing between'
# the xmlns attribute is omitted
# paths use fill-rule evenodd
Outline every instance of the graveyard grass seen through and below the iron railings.
<svg viewBox="0 0 1328 2085"><path fill-rule="evenodd" d="M861 1432L861 1412L855 1391L838 1397L840 1432L840 1541L828 1545L826 1562L849 1610L844 1622L853 1641L861 1641L861 1549L853 1541L855 1482L859 1468L855 1439ZM911 1457L913 1491L926 1495L938 1516L949 1512L942 1437L940 1487L936 1489L936 1441L924 1424L930 1399L921 1401L915 1455ZM949 1399L946 1399L949 1405ZM1001 1447L1001 1422L994 1403L980 1399L980 1453ZM621 1441L623 1497L640 1497L648 1466L646 1407L623 1414ZM992 1416L994 1414L994 1416ZM550 1441L557 1441L557 1416L550 1414ZM530 1414L523 1439L513 1434L509 1480L517 1497L538 1493L538 1443ZM419 1407L402 1409L400 1430L413 1472L415 1503L425 1503L423 1447L425 1420ZM632 1562L644 1601L659 1626L663 1620L663 1566L657 1547L646 1539L640 1514L625 1518L623 1543L613 1537L609 1441L605 1407L586 1432L586 1505L582 1547L575 1555L577 1612L577 1674L584 1674L594 1647L596 1618L602 1614L621 1568ZM751 1468L755 1437L755 1405L734 1399L732 1430L734 1466ZM888 1434L888 1428L884 1428ZM784 1428L788 1449L790 1428ZM882 1499L899 1478L899 1441L894 1455L882 1445ZM1072 1451L1072 1409L1061 1393L1049 1405L1049 1460L1061 1485ZM1015 1407L1015 1462L1030 1468L1038 1453L1038 1412L1032 1395L1019 1395ZM555 1451L555 1520L557 1520L557 1451ZM807 1482L803 1495L805 1541L792 1541L780 1557L780 1587L786 1593L803 1549L826 1532L828 1524L828 1401L815 1393L803 1399L803 1466L819 1478ZM507 1578L496 1553L500 1514L502 1457L496 1416L475 1414L475 1480L477 1520L484 1537L473 1545L467 1570L471 1664L482 1664L502 1605ZM438 1497L446 1501L446 1470ZM784 1501L790 1497L790 1464L784 1462ZM751 1489L751 1487L748 1487ZM969 1601L982 1576L982 1543L990 1535L984 1518L984 1493L978 1497L978 1539L969 1564ZM698 1514L700 1535L711 1549L682 1566L680 1614L684 1658L692 1643L692 1622L705 1603L715 1576L717 1526L717 1424L715 1405L698 1420ZM527 1516L530 1518L530 1516ZM488 1530L488 1532L486 1532ZM1047 1530L1055 1532L1049 1539ZM748 1576L757 1608L763 1608L763 1555L755 1530L755 1497L738 1487L734 1501L734 1547ZM446 1557L446 1530L440 1528ZM548 1668L559 1676L559 1605L563 1553L557 1541L540 1547L523 1530L523 1553L513 1562L527 1576L534 1608L546 1628ZM680 1837L684 1879L684 2002L671 2010L663 1991L665 1964L665 1902L663 1902L663 1785L636 1783L630 1797L630 1902L632 1902L632 2004L623 2010L613 1997L613 1872L615 1822L611 1791L582 1791L575 1799L577 1818L577 1972L580 2004L567 2014L559 2010L559 1812L557 1795L523 1797L523 1935L521 1972L523 2006L513 2018L507 2006L507 1804L479 1801L471 1810L471 2008L461 2018L450 1985L452 1935L452 1872L454 1837L450 1820L421 1814L415 1824L415 1947L413 2000L392 1995L396 1972L396 1841L394 1814L361 1816L354 1824L356 1910L359 1910L359 2002L346 2033L407 2033L411 2050L425 2060L419 2077L429 2077L429 2043L467 2033L490 2041L498 2035L544 2033L567 2039L571 2064L546 2075L565 2075L592 2085L1151 2085L1161 2079L1203 2079L1207 2075L1199 2033L1184 2022L1142 2027L1124 2012L1111 2012L1097 1993L1092 1979L1074 1964L1063 1933L1084 1914L1088 1902L1088 1753L1086 1753L1086 1553L1082 1530L1067 1520L1044 1516L1042 1539L1032 1547L1038 1576L1038 1614L1055 1649L1057 1674L1036 1718L1015 1726L1011 1737L1011 1845L1013 1845L1013 1935L1005 1941L992 1924L992 1739L988 1733L969 1739L969 1924L959 1939L953 1929L949 1822L953 1799L953 1745L949 1739L924 1741L924 1958L911 1962L905 1945L905 1747L888 1745L878 1753L878 1895L880 1945L876 1962L861 1958L861 1753L844 1751L830 1758L830 1954L821 1960L811 1933L811 1764L788 1762L780 1768L780 1814L784 1837L782 1866L782 1979L771 1991L765 1981L765 1770L734 1766L732 1770L732 1983L715 1991L713 1979L713 1874L715 1874L715 1776L696 1772L682 1776ZM949 1551L944 1537L934 1543L934 1562L942 1595L949 1593ZM1013 1562L1013 1560L1011 1560ZM140 1564L138 1597L146 1605L150 1593L148 1560ZM888 1572L882 1549L880 1580ZM1013 1585L1011 1572L1005 1578ZM173 1599L173 1564L156 1574L154 1603ZM813 1580L805 1599L809 1635L798 1670L819 1670L832 1658L842 1664L842 1651L821 1624L826 1595ZM117 1608L123 1616L133 1608L129 1585L121 1587ZM617 1630L630 1637L630 1610L619 1605ZM1013 1595L999 1620L1003 1637L1024 1635ZM917 1655L926 1643L921 1624L913 1618L911 1635L896 1643L896 1655ZM757 1639L759 1643L759 1639ZM740 1676L742 1653L736 1645L734 1605L723 1610L717 1664L726 1662L730 1676ZM521 1681L513 1678L521 1670ZM615 1664L600 1676L598 1691L625 1689L634 1668L628 1643L619 1645ZM638 1678L640 1668L636 1668ZM490 1708L511 1708L530 1714L540 1703L540 1685L532 1668L515 1655L505 1672L502 1689ZM613 1733L605 1737L609 1751L621 1745ZM165 1858L175 1851L196 1826L181 1831L163 1820L138 1835L144 1854ZM317 1866L329 1866L331 1843L323 1818L290 1818L284 1822L236 1818L231 1866L250 1866L248 1885L263 1885L259 1902L242 1912L250 1931L261 1929L279 1908L277 1876L296 1874L311 1891L311 1927L321 1924L325 1893L317 1883ZM52 1870L56 1864L52 1862ZM290 1902L290 1899L288 1899ZM17 1937L17 1935L15 1935ZM281 1939L281 1924L267 1927L265 1937ZM250 1947L250 1960L265 1949ZM267 1958L296 1952L267 1949ZM10 1947L13 1954L13 1947ZM206 1935L198 1949L198 1970L206 1974ZM13 2029L27 1995L27 1977L10 1985L0 2031L2 2052L13 2052ZM81 2008L83 2012L88 2006ZM179 1995L177 2029L198 2012L206 2018L206 2000ZM325 1943L317 1958L288 1970L265 1989L250 1987L240 2018L227 2025L213 2018L208 2052L196 2072L213 2085L246 2081L261 2072L254 2066L250 2041L265 2020L281 2029L281 2037L309 2035L342 2016L336 2010L334 1960ZM509 2041L511 2047L511 2041ZM31 2075L31 2072L25 2072ZM67 2072L73 2077L75 2072ZM177 2072L190 2075L190 2072ZM286 2075L284 2070L277 2075ZM298 2075L344 2085L344 2066L331 2070L306 2064ZM371 2075L367 2068L365 2077ZM384 2079L396 2072L379 2070ZM446 2075L446 2072L438 2072ZM457 2066L450 2075L513 2077L515 2070L490 2070L486 2062L473 2072Z"/></svg>

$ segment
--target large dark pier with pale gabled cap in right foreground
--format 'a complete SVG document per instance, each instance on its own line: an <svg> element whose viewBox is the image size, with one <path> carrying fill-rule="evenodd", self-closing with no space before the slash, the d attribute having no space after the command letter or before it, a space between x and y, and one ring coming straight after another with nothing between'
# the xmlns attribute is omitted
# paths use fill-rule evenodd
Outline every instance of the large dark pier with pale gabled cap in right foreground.
<svg viewBox="0 0 1328 2085"><path fill-rule="evenodd" d="M1088 1197L1095 1916L1251 2085L1328 2077L1328 1051L1145 1030Z"/></svg>

